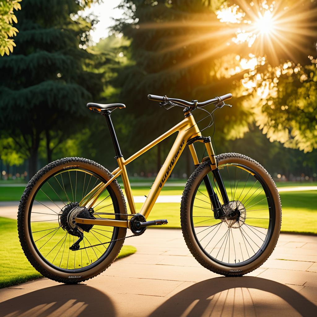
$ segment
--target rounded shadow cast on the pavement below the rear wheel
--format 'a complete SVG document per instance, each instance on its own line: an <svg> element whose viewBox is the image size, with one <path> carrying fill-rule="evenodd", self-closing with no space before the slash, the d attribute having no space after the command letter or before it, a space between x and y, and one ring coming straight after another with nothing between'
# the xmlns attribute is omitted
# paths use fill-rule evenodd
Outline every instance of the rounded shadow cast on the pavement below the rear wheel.
<svg viewBox="0 0 317 317"><path fill-rule="evenodd" d="M115 316L108 296L83 285L57 285L0 303L0 316Z"/></svg>

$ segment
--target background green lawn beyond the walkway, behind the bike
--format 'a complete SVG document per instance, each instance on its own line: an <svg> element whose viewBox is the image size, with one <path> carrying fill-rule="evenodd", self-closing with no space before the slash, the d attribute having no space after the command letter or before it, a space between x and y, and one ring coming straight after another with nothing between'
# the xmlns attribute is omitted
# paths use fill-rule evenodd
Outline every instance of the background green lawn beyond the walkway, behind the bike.
<svg viewBox="0 0 317 317"><path fill-rule="evenodd" d="M250 183L251 184L251 183ZM278 187L293 187L293 186L307 186L307 185L316 185L316 183L292 183L284 182L278 183ZM226 184L226 188L229 184ZM240 187L240 186L239 186ZM165 186L161 195L181 195L183 192L182 186ZM133 187L132 182L132 191L133 195L143 196L148 195L149 186L144 187ZM238 190L242 190L239 188ZM248 190L248 185L245 188L245 191ZM0 187L0 200L19 200L22 194L23 187ZM49 195L54 195L53 192L50 192L50 188L47 188L46 191ZM42 200L48 200L44 194L40 191L37 198ZM293 192L281 192L281 202L282 202L282 228L283 232L299 232L299 233L313 233L317 234L317 191L293 191ZM101 197L102 198L102 197ZM259 196L261 198L261 196ZM62 197L63 199L63 197ZM110 199L110 198L108 198ZM100 207L105 206L107 200L100 204ZM141 209L142 204L136 204L136 210ZM261 206L261 204L259 205ZM180 204L179 203L157 203L154 205L153 210L149 216L149 220L153 219L164 219L168 220L168 225L165 225L164 228L179 228L180 227ZM102 209L100 211L110 211ZM264 214L262 211L257 212L257 217ZM259 220L253 220L254 225L259 225ZM162 228L162 227L159 227Z"/></svg>

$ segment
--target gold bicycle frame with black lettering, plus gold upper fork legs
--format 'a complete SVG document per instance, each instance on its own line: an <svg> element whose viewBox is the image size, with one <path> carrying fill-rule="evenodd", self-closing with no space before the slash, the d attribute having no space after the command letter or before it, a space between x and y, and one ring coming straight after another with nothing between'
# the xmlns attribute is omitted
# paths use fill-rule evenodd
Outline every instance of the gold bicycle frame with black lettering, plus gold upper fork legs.
<svg viewBox="0 0 317 317"><path fill-rule="evenodd" d="M88 209L91 208L97 199L100 197L102 192L106 189L106 187L118 176L121 175L124 185L124 190L126 192L126 198L130 207L131 214L136 214L135 210L135 204L134 199L131 191L131 186L129 182L129 178L126 172L126 165L131 163L134 159L138 158L143 153L147 152L149 149L151 149L153 146L157 145L159 142L163 141L167 137L169 137L171 134L178 132L178 135L175 139L175 142L173 146L171 147L170 152L167 155L167 158L162 165L161 169L159 170L159 173L157 177L155 178L154 183L152 184L152 187L150 189L150 192L148 196L146 197L146 201L141 207L140 214L143 215L145 218L147 218L153 208L153 205L156 202L157 197L159 196L166 180L170 177L171 172L176 165L179 157L181 156L182 152L184 151L184 148L186 146L186 143L189 139L195 138L195 137L201 137L201 133L197 127L197 124L195 122L194 117L190 112L185 113L185 119L178 123L176 126L172 127L170 130L162 134L159 138L155 139L151 143L149 143L147 146L143 147L141 150L133 154L131 157L129 157L127 160L125 160L123 157L117 158L117 162L119 167L116 168L112 172L112 178L110 178L106 184L103 182L99 183L97 186L94 187L93 190L91 190L80 202L80 206L87 207ZM201 140L197 140L201 141ZM201 141L202 142L202 141ZM217 167L216 159L215 159L215 153L212 148L211 142L204 143L207 149L208 156L211 161L211 168L214 169ZM197 158L197 154L195 151L195 148L193 144L189 145L189 149L194 161L195 165L199 164L199 160ZM104 225L104 226L112 226L112 227L129 227L129 221L128 220L115 220L115 219L84 219L84 218L75 218L76 223L84 223L84 224L94 224L94 225Z"/></svg>

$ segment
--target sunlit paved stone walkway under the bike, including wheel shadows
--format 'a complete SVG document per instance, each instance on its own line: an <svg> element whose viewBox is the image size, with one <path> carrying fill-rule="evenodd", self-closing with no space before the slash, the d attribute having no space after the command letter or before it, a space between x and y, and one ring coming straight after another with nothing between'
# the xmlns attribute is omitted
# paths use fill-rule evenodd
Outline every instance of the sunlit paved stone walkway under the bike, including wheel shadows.
<svg viewBox="0 0 317 317"><path fill-rule="evenodd" d="M0 290L0 316L316 316L317 237L282 234L261 268L235 278L201 267L181 230L147 229L137 253L79 285L46 278Z"/></svg>

